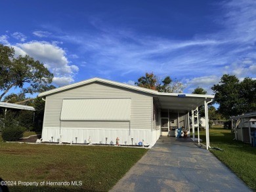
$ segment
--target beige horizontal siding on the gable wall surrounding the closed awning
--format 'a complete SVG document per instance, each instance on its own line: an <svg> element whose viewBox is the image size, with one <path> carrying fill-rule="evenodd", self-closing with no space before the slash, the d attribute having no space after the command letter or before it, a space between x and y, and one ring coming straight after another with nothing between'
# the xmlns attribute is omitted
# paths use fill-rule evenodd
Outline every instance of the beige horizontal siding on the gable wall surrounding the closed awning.
<svg viewBox="0 0 256 192"><path fill-rule="evenodd" d="M63 92L58 92L47 96L45 105L44 127L60 127L60 113L63 99L83 99L83 98L131 98L131 128L151 129L152 125L152 96L126 88L106 85L103 83L91 83L89 85L72 88ZM105 128L105 127L125 127L128 123L121 125L112 121L110 123L98 121L83 121L74 123L73 121L62 122L61 126L77 128Z"/></svg>

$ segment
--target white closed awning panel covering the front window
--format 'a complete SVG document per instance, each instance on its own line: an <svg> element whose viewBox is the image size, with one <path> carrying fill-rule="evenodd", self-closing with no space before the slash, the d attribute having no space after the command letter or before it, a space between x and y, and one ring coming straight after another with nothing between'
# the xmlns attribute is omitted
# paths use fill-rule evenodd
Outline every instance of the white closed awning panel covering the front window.
<svg viewBox="0 0 256 192"><path fill-rule="evenodd" d="M60 121L130 121L131 99L64 99Z"/></svg>

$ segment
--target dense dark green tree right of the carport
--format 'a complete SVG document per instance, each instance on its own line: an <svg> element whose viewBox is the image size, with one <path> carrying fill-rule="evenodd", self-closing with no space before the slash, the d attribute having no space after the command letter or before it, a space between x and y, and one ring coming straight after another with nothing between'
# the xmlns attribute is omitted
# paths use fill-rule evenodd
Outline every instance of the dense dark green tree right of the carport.
<svg viewBox="0 0 256 192"><path fill-rule="evenodd" d="M211 89L215 92L219 113L226 118L256 110L256 80L247 77L240 82L235 75L224 74Z"/></svg>

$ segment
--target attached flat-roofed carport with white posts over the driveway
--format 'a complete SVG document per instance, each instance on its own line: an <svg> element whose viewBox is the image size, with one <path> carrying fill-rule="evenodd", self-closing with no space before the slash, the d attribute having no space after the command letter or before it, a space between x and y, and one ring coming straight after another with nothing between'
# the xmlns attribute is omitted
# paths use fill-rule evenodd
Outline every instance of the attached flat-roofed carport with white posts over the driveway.
<svg viewBox="0 0 256 192"><path fill-rule="evenodd" d="M209 123L208 123L208 104L213 101L214 95L202 94L178 94L158 92L154 100L158 102L161 109L171 109L175 113L189 113L192 114L192 135L193 141L195 138L194 119L198 119L198 107L204 106L205 109L205 133L206 133L206 148L209 148ZM179 117L179 116L178 116ZM188 119L189 122L189 119ZM197 121L198 122L198 121ZM189 123L188 123L189 125ZM179 125L178 125L179 127ZM190 128L190 127L188 127ZM200 132L198 129L198 144L200 143Z"/></svg>

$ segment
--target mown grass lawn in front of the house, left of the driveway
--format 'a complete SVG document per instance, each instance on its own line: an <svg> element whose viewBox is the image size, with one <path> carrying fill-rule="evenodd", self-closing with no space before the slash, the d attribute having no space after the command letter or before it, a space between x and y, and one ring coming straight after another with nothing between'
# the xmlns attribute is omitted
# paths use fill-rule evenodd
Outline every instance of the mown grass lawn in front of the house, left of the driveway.
<svg viewBox="0 0 256 192"><path fill-rule="evenodd" d="M16 186L9 187L10 191L108 191L146 151L128 147L0 142L0 177L16 182ZM19 181L45 183L24 187L18 185ZM46 182L70 184L58 186Z"/></svg>

